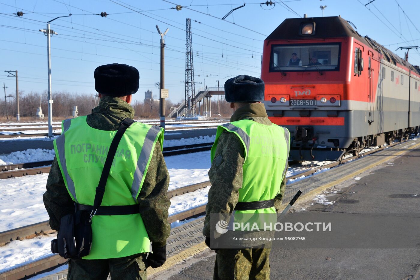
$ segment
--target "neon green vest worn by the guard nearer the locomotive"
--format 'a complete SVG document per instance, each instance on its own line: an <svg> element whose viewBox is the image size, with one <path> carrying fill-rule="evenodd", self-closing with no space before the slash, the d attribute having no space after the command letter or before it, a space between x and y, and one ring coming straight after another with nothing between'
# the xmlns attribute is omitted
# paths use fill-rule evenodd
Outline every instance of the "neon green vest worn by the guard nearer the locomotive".
<svg viewBox="0 0 420 280"><path fill-rule="evenodd" d="M218 140L223 131L234 133L244 145L245 161L242 188L238 202L273 199L280 192L286 174L289 157L289 130L276 124L265 125L243 119L217 128L216 139L211 149L211 161L215 158ZM276 213L274 207L238 211L243 214Z"/></svg>

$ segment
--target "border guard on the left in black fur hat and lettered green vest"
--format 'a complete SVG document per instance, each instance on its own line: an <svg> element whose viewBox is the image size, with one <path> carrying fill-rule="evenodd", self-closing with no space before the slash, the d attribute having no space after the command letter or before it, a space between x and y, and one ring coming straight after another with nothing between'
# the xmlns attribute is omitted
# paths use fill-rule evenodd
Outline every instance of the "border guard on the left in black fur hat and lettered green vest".
<svg viewBox="0 0 420 280"><path fill-rule="evenodd" d="M59 231L60 219L75 211L75 202L93 205L113 135L123 119L134 117L129 103L139 89L139 71L113 63L99 66L94 77L99 105L88 116L63 121L61 138L54 141L56 156L43 195L53 230ZM147 266L165 262L171 227L162 143L160 127L134 122L126 130L101 205L137 204L139 214L96 214L90 254L70 259L69 280L105 280L109 273L113 279L146 279ZM153 253L147 256L150 242Z"/></svg>

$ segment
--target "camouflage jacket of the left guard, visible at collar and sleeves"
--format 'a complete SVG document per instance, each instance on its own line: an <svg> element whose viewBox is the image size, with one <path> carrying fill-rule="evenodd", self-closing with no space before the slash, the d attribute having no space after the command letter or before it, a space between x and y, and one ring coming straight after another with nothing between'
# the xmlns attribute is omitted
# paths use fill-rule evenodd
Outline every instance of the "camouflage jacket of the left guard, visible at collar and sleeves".
<svg viewBox="0 0 420 280"><path fill-rule="evenodd" d="M92 114L87 116L87 124L95 129L117 130L123 119L133 117L134 109L130 104L120 98L105 96L92 110ZM168 186L169 173L160 150L160 143L157 142L137 202L150 241L159 247L166 245L166 239L171 231L167 221L168 208L171 205L166 195ZM74 211L74 201L64 184L57 158L53 160L47 180L47 191L43 198L45 209L50 216L50 226L58 231L61 217Z"/></svg>

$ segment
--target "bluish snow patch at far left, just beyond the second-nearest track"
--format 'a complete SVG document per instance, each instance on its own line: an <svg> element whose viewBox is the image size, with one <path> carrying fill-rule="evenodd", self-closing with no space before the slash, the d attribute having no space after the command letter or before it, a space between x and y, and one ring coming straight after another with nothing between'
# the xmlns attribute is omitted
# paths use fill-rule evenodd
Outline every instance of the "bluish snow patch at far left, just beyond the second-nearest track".
<svg viewBox="0 0 420 280"><path fill-rule="evenodd" d="M55 156L54 150L28 149L17 151L7 155L0 155L0 165L18 164L33 161L52 161Z"/></svg>

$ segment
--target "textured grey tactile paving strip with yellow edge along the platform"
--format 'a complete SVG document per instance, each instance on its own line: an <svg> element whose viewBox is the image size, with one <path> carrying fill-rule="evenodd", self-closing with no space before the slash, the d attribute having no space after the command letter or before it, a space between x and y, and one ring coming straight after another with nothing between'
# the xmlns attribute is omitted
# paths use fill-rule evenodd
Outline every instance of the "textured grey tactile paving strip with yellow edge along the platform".
<svg viewBox="0 0 420 280"><path fill-rule="evenodd" d="M378 164L391 159L392 156L399 156L402 153L408 152L411 148L416 148L420 145L420 139L412 140L402 145L373 153L368 156L357 159L356 162L350 161L346 164L334 167L328 172L319 172L313 174L305 180L292 182L287 185L284 192L285 207L287 202L295 195L298 190L302 191L301 198L308 197L315 192L320 192L326 188L331 187L336 183L347 180L349 176L355 176L367 169L372 168ZM167 241L167 261L162 267L147 269L147 275L152 275L158 271L171 267L177 262L194 256L200 251L207 248L204 243L204 236L202 229L204 225L204 218L188 222L179 227L174 227L171 230L171 235ZM61 271L59 274L53 274L48 277L40 278L39 280L62 280L67 278L67 270ZM109 279L109 278L108 278Z"/></svg>

